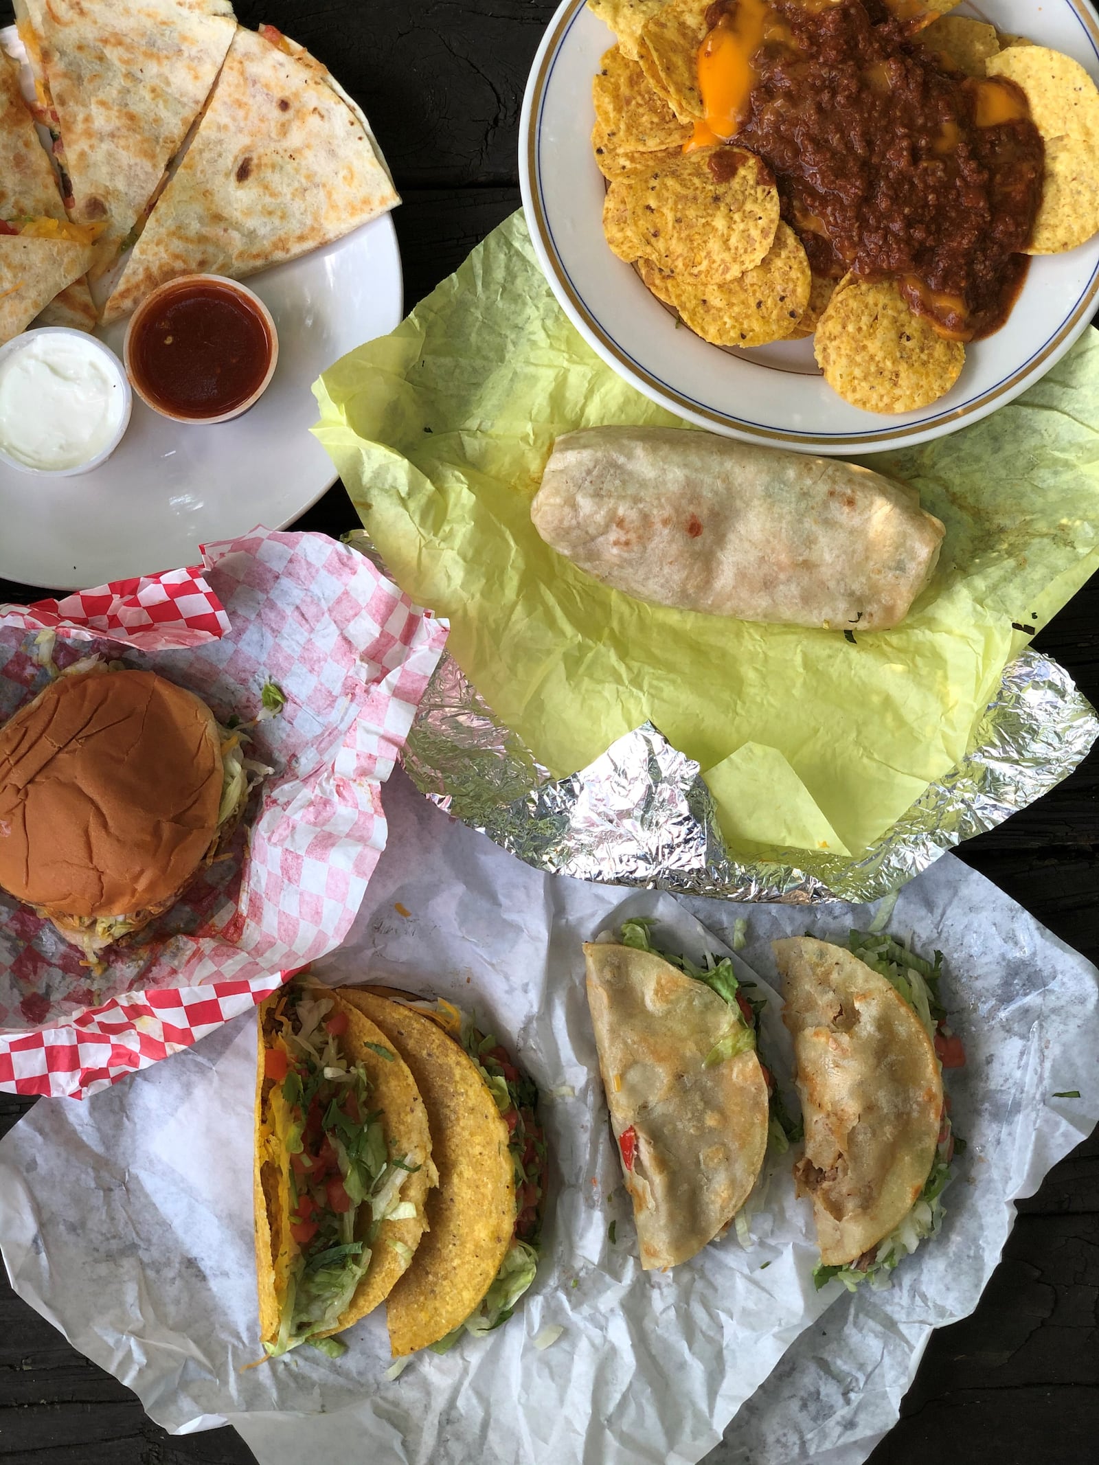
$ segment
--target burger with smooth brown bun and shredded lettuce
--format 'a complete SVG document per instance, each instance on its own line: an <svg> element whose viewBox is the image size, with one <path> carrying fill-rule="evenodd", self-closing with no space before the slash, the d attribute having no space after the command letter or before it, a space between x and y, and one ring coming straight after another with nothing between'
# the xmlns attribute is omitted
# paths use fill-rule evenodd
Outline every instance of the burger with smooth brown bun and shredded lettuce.
<svg viewBox="0 0 1099 1465"><path fill-rule="evenodd" d="M0 727L0 888L95 961L212 860L245 762L240 734L152 671L62 674Z"/></svg>

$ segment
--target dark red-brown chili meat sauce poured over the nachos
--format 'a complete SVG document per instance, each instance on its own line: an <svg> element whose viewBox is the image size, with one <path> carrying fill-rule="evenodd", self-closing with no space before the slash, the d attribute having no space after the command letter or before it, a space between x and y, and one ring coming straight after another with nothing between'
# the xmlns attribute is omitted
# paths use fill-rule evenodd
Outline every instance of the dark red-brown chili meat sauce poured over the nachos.
<svg viewBox="0 0 1099 1465"><path fill-rule="evenodd" d="M730 9L718 0L709 25ZM891 275L944 335L998 330L1042 201L1043 145L1023 92L954 72L882 0L769 10L733 141L774 171L813 272Z"/></svg>

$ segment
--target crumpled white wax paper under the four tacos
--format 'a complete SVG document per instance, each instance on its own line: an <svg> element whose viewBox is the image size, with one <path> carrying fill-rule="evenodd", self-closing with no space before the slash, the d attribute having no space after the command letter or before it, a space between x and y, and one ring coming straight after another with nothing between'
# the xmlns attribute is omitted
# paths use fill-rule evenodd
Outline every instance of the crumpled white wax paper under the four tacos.
<svg viewBox="0 0 1099 1465"><path fill-rule="evenodd" d="M862 1443L837 1459L865 1458L895 1418L929 1327L976 1304L1010 1228L1010 1197L1033 1190L1095 1122L1095 968L957 860L907 886L889 927L947 955L944 993L970 1053L950 1075L969 1150L942 1235L904 1263L892 1291L860 1295L845 1326L838 1308L829 1313L824 1339L813 1320L837 1298L850 1304L838 1283L813 1289L812 1219L793 1197L788 1156L752 1217L749 1250L730 1232L667 1276L637 1267L579 943L645 913L668 945L697 955L714 939L687 904L730 941L743 911L741 955L766 977L774 936L838 936L870 913L626 895L519 864L403 779L385 806L390 844L356 924L315 970L325 980L387 977L475 1008L547 1094L544 1260L516 1317L445 1357L415 1358L396 1380L384 1379L381 1313L346 1335L343 1360L299 1349L239 1371L258 1355L254 1018L86 1105L42 1103L16 1125L0 1146L0 1247L16 1291L133 1387L154 1420L176 1431L229 1420L261 1465L365 1455L380 1465L687 1465L718 1443L791 1343L717 1458L787 1465L851 1440ZM763 1043L785 1081L778 1006L771 996ZM1054 1100L1062 1088L1084 1097ZM536 1349L551 1324L561 1336Z"/></svg>

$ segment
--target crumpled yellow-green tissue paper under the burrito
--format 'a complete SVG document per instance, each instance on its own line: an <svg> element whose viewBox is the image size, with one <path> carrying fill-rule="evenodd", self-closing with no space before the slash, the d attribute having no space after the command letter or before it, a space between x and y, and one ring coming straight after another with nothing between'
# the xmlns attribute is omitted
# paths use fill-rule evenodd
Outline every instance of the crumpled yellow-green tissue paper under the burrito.
<svg viewBox="0 0 1099 1465"><path fill-rule="evenodd" d="M315 385L314 429L402 586L557 776L652 721L697 760L734 856L859 856L967 752L1007 662L1099 563L1099 337L974 426L863 461L947 526L901 627L856 633L646 605L550 549L530 500L554 438L686 426L557 306L522 214L391 335ZM1014 627L1013 627L1014 623Z"/></svg>

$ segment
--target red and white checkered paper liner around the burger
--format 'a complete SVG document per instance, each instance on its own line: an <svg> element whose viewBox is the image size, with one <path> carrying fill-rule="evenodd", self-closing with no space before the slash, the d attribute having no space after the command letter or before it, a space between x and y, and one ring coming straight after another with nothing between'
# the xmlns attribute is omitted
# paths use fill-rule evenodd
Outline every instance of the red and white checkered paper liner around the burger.
<svg viewBox="0 0 1099 1465"><path fill-rule="evenodd" d="M271 765L239 832L101 977L0 892L0 1090L84 1097L186 1047L338 946L385 847L393 772L445 624L327 535L256 529L204 548L205 567L0 608L0 721L59 665L98 652L198 693L220 721L255 716L271 678L283 711L252 730Z"/></svg>

